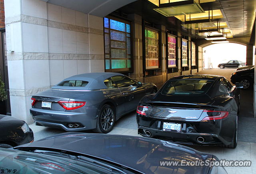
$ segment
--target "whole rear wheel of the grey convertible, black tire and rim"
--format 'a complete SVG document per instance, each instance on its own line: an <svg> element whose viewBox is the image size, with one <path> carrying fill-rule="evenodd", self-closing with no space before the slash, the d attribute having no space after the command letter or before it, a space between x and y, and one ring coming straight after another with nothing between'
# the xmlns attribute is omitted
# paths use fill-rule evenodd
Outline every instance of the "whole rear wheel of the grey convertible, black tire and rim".
<svg viewBox="0 0 256 174"><path fill-rule="evenodd" d="M109 133L114 127L115 118L116 115L112 106L105 104L100 109L96 128L93 131L96 133Z"/></svg>

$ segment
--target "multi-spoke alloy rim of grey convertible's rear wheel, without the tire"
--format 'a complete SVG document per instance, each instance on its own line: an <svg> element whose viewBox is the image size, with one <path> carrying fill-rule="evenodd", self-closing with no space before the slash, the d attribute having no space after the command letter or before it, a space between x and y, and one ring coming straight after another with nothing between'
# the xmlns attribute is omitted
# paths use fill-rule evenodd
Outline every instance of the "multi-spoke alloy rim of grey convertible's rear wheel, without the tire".
<svg viewBox="0 0 256 174"><path fill-rule="evenodd" d="M100 117L101 127L104 131L112 129L114 124L114 113L111 108L105 108Z"/></svg>

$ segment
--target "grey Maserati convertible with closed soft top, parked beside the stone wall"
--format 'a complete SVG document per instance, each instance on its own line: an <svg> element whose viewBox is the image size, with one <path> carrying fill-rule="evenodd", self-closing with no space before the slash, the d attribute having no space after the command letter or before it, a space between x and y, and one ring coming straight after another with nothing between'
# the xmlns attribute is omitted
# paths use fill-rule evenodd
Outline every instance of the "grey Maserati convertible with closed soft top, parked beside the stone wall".
<svg viewBox="0 0 256 174"><path fill-rule="evenodd" d="M80 74L32 96L30 113L36 125L108 133L116 120L136 109L143 96L156 91L156 85L120 73Z"/></svg>

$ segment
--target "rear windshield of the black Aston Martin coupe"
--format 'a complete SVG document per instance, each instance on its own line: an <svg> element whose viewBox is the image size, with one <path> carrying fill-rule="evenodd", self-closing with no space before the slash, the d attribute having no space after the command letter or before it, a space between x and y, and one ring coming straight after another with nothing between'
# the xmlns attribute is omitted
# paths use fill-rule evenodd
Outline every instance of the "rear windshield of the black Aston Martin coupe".
<svg viewBox="0 0 256 174"><path fill-rule="evenodd" d="M200 95L206 93L213 82L202 79L170 80L161 93L163 95Z"/></svg>

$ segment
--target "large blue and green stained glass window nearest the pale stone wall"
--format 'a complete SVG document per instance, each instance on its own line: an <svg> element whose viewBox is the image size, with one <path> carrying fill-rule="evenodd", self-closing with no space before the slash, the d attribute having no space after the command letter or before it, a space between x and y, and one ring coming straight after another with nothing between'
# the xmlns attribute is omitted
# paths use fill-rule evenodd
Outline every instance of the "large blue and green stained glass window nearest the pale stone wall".
<svg viewBox="0 0 256 174"><path fill-rule="evenodd" d="M130 32L128 22L104 18L105 69L107 72L131 70Z"/></svg>

